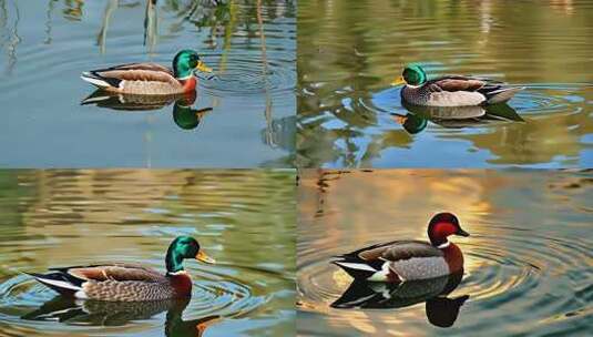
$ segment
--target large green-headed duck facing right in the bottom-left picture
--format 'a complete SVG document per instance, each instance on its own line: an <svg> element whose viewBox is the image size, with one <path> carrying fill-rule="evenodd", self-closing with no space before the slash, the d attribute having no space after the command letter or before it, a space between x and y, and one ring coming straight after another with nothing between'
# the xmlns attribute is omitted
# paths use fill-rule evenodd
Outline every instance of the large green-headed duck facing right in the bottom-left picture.
<svg viewBox="0 0 593 337"><path fill-rule="evenodd" d="M161 300L184 298L192 294L192 278L183 269L183 259L215 263L191 236L178 236L166 252L166 274L136 264L98 264L50 268L48 274L30 273L53 290L81 299Z"/></svg>

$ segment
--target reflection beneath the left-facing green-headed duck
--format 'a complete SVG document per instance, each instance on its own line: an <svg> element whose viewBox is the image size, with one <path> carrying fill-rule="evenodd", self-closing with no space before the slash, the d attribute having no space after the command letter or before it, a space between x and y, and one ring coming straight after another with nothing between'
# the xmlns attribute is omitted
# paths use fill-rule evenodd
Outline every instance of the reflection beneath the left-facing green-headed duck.
<svg viewBox="0 0 593 337"><path fill-rule="evenodd" d="M443 127L462 129L483 126L493 122L524 122L507 103L476 106L422 106L401 102L407 114L392 113L395 121L409 134L423 131L428 121Z"/></svg>

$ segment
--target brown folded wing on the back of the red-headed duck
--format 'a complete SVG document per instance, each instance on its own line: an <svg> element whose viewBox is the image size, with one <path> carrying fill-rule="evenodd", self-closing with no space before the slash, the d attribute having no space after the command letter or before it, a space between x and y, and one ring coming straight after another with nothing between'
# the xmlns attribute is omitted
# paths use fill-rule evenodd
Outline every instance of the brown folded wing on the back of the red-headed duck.
<svg viewBox="0 0 593 337"><path fill-rule="evenodd" d="M439 248L419 241L401 241L386 247L368 251L360 254L362 258L380 258L389 262L410 259L412 257L443 256Z"/></svg>

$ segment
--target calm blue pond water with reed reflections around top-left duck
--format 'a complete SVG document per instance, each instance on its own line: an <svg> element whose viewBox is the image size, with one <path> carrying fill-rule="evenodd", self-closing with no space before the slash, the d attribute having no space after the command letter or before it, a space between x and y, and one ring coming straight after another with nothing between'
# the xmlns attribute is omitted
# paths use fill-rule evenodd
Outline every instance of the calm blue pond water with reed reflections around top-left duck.
<svg viewBox="0 0 593 337"><path fill-rule="evenodd" d="M0 165L290 167L295 6L0 0ZM201 75L185 109L127 98L81 105L94 91L81 72L171 67L182 49L196 50L215 73Z"/></svg>

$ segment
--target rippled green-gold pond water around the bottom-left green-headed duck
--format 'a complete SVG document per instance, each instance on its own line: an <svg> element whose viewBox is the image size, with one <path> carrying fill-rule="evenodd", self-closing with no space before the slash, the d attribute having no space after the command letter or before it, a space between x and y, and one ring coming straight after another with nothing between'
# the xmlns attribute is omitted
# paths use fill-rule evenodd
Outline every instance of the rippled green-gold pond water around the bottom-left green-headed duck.
<svg viewBox="0 0 593 337"><path fill-rule="evenodd" d="M0 171L0 335L294 335L295 188L290 171ZM23 274L164 273L178 235L216 259L185 262L190 302L75 303Z"/></svg>

